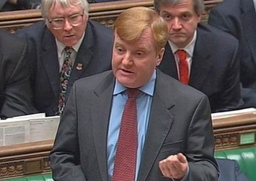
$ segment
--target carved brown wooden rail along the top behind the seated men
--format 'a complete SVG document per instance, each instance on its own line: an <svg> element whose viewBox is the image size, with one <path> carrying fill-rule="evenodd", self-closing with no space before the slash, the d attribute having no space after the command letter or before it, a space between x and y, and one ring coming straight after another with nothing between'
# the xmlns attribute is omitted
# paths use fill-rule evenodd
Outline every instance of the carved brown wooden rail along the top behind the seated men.
<svg viewBox="0 0 256 181"><path fill-rule="evenodd" d="M208 21L210 9L223 0L205 0L205 12L202 16L202 22ZM127 8L135 6L145 6L154 8L153 0L122 0L105 3L90 4L89 17L103 25L113 28L115 19ZM21 11L0 12L0 28L4 28L11 33L18 29L43 20L40 10L30 9Z"/></svg>

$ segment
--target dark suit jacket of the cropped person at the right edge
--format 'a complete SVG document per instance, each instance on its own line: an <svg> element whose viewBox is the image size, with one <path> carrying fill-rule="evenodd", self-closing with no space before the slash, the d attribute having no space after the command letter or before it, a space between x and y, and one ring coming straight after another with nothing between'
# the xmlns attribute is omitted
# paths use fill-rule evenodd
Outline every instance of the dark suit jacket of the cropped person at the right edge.
<svg viewBox="0 0 256 181"><path fill-rule="evenodd" d="M225 0L210 12L209 24L239 40L240 77L245 107L256 107L256 12L253 0Z"/></svg>

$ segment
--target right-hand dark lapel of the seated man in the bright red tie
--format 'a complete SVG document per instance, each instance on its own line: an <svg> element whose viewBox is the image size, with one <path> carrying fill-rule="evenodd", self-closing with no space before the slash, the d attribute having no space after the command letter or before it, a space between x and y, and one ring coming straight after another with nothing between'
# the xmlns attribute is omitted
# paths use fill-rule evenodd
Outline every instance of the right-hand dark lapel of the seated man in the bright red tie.
<svg viewBox="0 0 256 181"><path fill-rule="evenodd" d="M213 50L213 47L209 43L212 40L213 37L210 32L197 28L189 85L199 90L204 85L205 79L210 72L210 67L212 66L210 51Z"/></svg>

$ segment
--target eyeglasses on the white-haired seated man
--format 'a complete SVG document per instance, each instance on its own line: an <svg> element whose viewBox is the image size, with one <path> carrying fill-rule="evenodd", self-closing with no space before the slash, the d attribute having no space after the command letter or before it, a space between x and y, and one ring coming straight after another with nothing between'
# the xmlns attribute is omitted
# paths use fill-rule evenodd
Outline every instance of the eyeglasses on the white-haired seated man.
<svg viewBox="0 0 256 181"><path fill-rule="evenodd" d="M72 25L72 26L78 26L82 23L82 19L83 19L83 13L82 14L73 14L70 17L64 18L53 18L50 19L47 17L48 22L51 24L52 28L55 30L60 30L65 26L65 19L68 20L68 22Z"/></svg>

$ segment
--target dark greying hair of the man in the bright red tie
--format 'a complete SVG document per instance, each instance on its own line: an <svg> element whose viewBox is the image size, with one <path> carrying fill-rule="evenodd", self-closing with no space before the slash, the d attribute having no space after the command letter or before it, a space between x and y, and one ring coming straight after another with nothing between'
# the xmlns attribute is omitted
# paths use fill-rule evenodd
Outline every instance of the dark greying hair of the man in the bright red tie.
<svg viewBox="0 0 256 181"><path fill-rule="evenodd" d="M205 4L203 0L192 0L194 4L194 10L196 11L197 14L202 14L203 11L205 10ZM160 7L163 4L170 4L170 5L175 5L178 3L181 3L182 0L154 0L154 8L156 12L160 12Z"/></svg>

